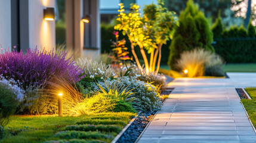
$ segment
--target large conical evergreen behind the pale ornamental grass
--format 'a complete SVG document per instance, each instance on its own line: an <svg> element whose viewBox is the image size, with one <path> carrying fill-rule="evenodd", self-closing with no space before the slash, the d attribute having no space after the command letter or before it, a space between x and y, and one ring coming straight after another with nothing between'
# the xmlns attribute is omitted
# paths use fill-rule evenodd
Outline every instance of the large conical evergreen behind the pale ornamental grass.
<svg viewBox="0 0 256 143"><path fill-rule="evenodd" d="M193 0L189 0L186 9L181 11L179 23L180 26L175 28L172 43L169 46L168 65L172 70L178 70L175 64L184 51L202 47L214 52L214 48L211 46L213 34L208 21L203 12L199 11L198 5L193 3Z"/></svg>

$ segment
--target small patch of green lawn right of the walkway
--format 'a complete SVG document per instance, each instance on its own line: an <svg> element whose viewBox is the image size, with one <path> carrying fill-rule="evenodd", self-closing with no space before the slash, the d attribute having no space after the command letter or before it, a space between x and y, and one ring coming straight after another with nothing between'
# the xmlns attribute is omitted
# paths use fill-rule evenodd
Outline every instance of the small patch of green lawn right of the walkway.
<svg viewBox="0 0 256 143"><path fill-rule="evenodd" d="M256 128L256 88L245 88L245 91L250 95L252 100L241 100L245 107L252 124Z"/></svg>

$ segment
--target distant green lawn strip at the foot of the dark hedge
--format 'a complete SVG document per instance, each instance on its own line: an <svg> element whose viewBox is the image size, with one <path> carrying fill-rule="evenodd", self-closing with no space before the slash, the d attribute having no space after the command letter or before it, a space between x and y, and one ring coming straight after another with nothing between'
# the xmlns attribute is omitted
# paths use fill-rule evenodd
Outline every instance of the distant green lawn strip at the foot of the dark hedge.
<svg viewBox="0 0 256 143"><path fill-rule="evenodd" d="M170 70L169 66L161 65L161 69ZM225 72L256 72L256 63L226 64Z"/></svg>

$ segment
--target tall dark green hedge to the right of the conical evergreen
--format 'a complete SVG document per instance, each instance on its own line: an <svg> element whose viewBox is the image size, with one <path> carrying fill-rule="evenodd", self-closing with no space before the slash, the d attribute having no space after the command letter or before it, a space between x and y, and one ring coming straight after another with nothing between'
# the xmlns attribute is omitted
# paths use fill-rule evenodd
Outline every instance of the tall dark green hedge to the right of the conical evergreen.
<svg viewBox="0 0 256 143"><path fill-rule="evenodd" d="M232 26L223 30L221 19L218 18L214 27L215 52L227 63L255 63L256 38L255 27L250 23L248 30L243 26Z"/></svg>

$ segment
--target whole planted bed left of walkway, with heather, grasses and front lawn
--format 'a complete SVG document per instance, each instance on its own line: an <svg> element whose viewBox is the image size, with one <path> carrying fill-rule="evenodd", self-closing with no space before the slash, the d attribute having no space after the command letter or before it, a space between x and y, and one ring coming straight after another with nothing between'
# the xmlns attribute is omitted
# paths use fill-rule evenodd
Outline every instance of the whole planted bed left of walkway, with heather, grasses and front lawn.
<svg viewBox="0 0 256 143"><path fill-rule="evenodd" d="M112 68L39 49L0 61L0 142L111 142L138 111L153 113L166 98L165 76L132 63Z"/></svg>

